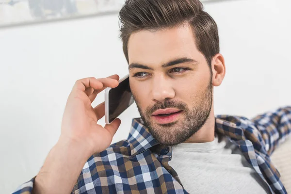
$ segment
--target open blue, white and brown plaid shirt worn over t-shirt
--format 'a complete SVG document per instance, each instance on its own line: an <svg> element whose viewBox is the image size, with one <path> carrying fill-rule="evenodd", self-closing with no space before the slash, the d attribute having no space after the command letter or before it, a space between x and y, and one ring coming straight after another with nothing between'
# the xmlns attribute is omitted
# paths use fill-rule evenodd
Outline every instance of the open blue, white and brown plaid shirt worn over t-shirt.
<svg viewBox="0 0 291 194"><path fill-rule="evenodd" d="M267 183L270 193L287 194L270 155L291 133L291 107L261 114L252 120L220 115L216 118L215 131L240 148ZM161 146L141 119L133 119L127 140L89 158L72 193L187 193L168 164L171 156L171 147ZM33 182L34 178L21 185L14 194L31 194Z"/></svg>

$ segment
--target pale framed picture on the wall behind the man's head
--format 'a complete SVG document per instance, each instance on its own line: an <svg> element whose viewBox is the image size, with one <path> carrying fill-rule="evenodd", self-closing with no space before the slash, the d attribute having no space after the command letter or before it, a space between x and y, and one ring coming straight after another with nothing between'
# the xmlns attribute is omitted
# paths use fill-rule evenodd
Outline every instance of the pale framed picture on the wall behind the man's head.
<svg viewBox="0 0 291 194"><path fill-rule="evenodd" d="M0 0L0 27L118 13L123 3L124 0Z"/></svg>

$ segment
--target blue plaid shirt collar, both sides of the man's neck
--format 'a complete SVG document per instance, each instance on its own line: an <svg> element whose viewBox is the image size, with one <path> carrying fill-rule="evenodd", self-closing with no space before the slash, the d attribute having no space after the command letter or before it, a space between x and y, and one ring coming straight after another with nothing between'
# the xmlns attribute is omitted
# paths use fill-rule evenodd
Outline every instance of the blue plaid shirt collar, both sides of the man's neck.
<svg viewBox="0 0 291 194"><path fill-rule="evenodd" d="M245 140L243 130L239 127L239 120L234 117L233 119L229 118L229 116L215 118L215 132L228 136L235 141ZM131 156L135 156L153 146L159 145L159 142L150 134L141 118L134 118L132 120L128 141Z"/></svg>

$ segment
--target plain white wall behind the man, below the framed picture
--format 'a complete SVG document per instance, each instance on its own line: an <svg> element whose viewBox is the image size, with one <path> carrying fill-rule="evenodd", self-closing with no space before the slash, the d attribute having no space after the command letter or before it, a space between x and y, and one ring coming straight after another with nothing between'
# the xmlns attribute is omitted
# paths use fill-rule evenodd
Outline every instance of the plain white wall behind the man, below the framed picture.
<svg viewBox="0 0 291 194"><path fill-rule="evenodd" d="M215 89L215 113L251 117L291 104L291 2L205 7L218 23L227 67ZM0 29L0 193L37 174L58 140L74 82L115 73L127 73L117 15ZM103 100L102 93L94 105ZM113 142L127 137L138 115L132 106L121 116Z"/></svg>

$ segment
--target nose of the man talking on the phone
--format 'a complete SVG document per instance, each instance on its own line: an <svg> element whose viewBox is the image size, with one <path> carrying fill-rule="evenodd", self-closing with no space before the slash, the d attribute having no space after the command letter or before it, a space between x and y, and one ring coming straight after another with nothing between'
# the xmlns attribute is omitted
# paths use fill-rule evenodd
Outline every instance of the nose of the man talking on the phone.
<svg viewBox="0 0 291 194"><path fill-rule="evenodd" d="M164 101L175 97L175 90L172 81L160 76L153 80L152 83L152 98L154 101Z"/></svg>

